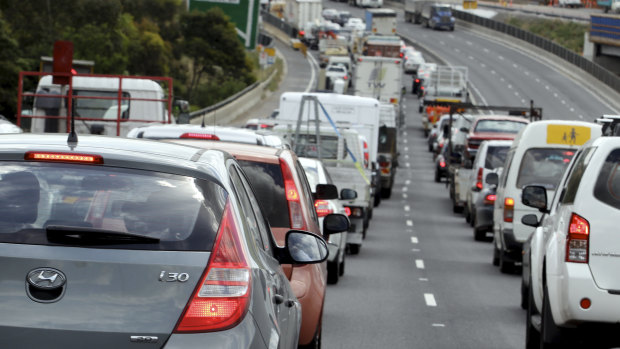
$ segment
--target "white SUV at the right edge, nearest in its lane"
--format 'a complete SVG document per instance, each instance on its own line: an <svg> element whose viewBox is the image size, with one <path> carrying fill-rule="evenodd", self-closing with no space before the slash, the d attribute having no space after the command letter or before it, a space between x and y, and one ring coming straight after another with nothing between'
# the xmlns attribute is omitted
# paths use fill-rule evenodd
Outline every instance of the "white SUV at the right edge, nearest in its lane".
<svg viewBox="0 0 620 349"><path fill-rule="evenodd" d="M620 138L586 143L547 195L542 186L523 189L523 203L544 212L540 221L522 218L536 227L524 255L526 347L567 348L579 338L584 348L595 347L591 340L618 347Z"/></svg>

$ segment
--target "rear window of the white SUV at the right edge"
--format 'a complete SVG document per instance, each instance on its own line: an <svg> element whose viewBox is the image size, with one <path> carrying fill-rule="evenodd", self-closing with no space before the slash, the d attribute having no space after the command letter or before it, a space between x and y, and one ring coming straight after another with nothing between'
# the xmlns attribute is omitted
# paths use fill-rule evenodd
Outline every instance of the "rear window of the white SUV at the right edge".
<svg viewBox="0 0 620 349"><path fill-rule="evenodd" d="M620 209L620 149L613 150L605 159L596 180L594 197Z"/></svg>

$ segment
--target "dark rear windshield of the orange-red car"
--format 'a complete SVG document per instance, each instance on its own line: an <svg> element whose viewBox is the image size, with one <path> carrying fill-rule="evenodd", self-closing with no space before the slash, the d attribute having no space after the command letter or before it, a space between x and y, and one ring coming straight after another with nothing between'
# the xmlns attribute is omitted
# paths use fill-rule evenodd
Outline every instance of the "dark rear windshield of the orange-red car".
<svg viewBox="0 0 620 349"><path fill-rule="evenodd" d="M284 191L284 178L280 164L267 164L240 160L239 164L254 189L262 211L267 215L269 225L290 228L288 202Z"/></svg>

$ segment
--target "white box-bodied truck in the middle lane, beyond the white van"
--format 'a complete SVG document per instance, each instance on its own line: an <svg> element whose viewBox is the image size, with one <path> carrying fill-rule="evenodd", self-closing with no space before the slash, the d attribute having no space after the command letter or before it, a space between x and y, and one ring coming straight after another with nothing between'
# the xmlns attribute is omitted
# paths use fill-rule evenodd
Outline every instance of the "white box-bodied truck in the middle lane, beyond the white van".
<svg viewBox="0 0 620 349"><path fill-rule="evenodd" d="M403 88L403 66L400 58L361 56L353 76L353 94L372 97L396 106L400 118Z"/></svg>

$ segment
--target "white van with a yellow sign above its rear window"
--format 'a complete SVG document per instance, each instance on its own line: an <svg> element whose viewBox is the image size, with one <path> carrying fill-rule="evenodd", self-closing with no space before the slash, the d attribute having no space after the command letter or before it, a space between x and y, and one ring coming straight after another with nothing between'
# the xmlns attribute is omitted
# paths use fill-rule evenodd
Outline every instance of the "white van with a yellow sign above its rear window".
<svg viewBox="0 0 620 349"><path fill-rule="evenodd" d="M548 120L528 124L515 138L497 186L493 209L493 264L503 273L521 265L523 242L534 231L521 223L540 212L521 203L521 189L540 185L553 197L575 150L601 135L601 126L582 121Z"/></svg>

